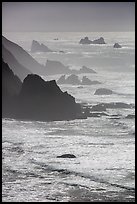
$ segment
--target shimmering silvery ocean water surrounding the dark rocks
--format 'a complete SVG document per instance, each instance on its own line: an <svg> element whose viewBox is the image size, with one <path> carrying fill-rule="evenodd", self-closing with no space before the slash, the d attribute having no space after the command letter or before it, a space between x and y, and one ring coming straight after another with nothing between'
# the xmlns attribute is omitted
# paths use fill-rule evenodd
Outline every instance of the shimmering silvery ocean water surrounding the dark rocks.
<svg viewBox="0 0 137 204"><path fill-rule="evenodd" d="M96 85L59 85L87 105L122 102L135 105L135 33L3 33L39 63L57 60L72 69L83 65L96 74ZM81 38L103 37L105 45L80 45ZM58 38L58 40L55 40ZM52 53L30 52L32 40ZM118 42L120 49L114 49ZM63 51L63 52L60 52ZM41 76L45 80L61 75ZM98 88L112 95L94 95ZM89 117L72 121L2 120L3 202L134 202L135 108L108 109L116 117ZM70 153L76 158L57 158Z"/></svg>

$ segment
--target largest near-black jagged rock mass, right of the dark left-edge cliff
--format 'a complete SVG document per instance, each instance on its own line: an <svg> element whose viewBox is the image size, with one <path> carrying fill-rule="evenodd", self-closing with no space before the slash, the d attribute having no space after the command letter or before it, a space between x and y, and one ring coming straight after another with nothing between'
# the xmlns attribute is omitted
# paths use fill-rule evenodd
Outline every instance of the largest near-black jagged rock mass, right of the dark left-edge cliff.
<svg viewBox="0 0 137 204"><path fill-rule="evenodd" d="M62 92L56 81L28 75L16 100L16 118L27 120L72 120L81 114L75 98Z"/></svg>

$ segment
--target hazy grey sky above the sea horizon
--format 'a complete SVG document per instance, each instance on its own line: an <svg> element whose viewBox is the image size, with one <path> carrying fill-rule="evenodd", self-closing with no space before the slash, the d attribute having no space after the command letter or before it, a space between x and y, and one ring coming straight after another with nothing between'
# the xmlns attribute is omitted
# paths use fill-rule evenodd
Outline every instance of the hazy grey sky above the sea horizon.
<svg viewBox="0 0 137 204"><path fill-rule="evenodd" d="M134 31L135 2L3 2L2 31Z"/></svg>

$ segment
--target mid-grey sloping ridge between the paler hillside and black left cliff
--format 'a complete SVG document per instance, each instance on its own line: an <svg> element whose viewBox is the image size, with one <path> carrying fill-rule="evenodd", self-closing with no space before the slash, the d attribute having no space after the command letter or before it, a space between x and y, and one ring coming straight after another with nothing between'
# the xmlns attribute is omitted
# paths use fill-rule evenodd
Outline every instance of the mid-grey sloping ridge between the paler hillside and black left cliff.
<svg viewBox="0 0 137 204"><path fill-rule="evenodd" d="M2 45L2 58L9 65L12 71L23 81L23 79L31 72L21 65L13 54Z"/></svg>

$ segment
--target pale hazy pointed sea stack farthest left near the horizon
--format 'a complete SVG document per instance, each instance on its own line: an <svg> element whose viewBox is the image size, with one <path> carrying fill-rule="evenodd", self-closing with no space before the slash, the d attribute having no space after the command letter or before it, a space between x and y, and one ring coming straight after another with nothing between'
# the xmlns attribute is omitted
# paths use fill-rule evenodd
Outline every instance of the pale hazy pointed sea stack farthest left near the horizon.
<svg viewBox="0 0 137 204"><path fill-rule="evenodd" d="M32 41L31 44L31 52L52 52L51 49L49 49L46 45L44 45L43 43L40 44L39 42L37 42L36 40Z"/></svg>

